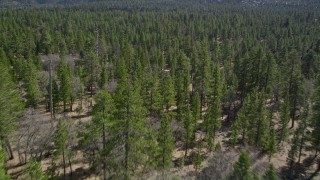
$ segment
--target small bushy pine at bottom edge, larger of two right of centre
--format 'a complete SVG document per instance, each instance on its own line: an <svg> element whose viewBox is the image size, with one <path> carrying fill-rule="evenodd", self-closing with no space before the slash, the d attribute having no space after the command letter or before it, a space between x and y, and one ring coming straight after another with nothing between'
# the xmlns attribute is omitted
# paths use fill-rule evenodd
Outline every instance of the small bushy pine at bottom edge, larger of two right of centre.
<svg viewBox="0 0 320 180"><path fill-rule="evenodd" d="M250 175L250 159L247 152L242 152L238 161L233 165L234 178L238 180L249 180Z"/></svg>

